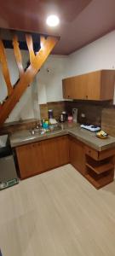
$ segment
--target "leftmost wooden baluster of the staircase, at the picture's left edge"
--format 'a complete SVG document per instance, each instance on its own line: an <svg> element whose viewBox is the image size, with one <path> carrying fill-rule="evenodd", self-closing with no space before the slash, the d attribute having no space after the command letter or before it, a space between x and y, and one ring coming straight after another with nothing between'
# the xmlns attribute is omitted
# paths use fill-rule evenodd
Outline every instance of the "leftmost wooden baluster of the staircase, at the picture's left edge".
<svg viewBox="0 0 115 256"><path fill-rule="evenodd" d="M13 87L10 81L10 75L9 75L9 68L7 64L7 58L6 58L6 53L3 45L3 41L0 39L0 62L2 65L2 70L3 70L3 78L6 82L7 85L7 90L8 90L8 96L11 95Z"/></svg>

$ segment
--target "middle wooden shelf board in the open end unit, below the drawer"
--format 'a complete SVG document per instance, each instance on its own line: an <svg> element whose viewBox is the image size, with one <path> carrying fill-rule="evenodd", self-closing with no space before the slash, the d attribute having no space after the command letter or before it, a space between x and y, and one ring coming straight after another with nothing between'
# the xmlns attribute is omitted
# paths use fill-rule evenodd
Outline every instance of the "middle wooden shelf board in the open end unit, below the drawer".
<svg viewBox="0 0 115 256"><path fill-rule="evenodd" d="M113 164L112 163L106 163L102 164L100 166L91 166L89 163L86 163L86 166L88 166L92 171L96 172L97 174L101 174L103 172L107 172L109 170L112 170Z"/></svg>

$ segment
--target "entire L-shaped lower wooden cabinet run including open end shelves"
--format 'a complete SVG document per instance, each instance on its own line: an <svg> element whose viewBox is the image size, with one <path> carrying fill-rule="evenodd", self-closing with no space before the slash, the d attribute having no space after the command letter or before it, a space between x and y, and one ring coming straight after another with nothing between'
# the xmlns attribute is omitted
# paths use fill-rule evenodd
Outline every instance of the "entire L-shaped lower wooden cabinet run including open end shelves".
<svg viewBox="0 0 115 256"><path fill-rule="evenodd" d="M71 163L96 189L114 178L115 148L101 152L72 136L50 138L15 148L20 178L34 176Z"/></svg>

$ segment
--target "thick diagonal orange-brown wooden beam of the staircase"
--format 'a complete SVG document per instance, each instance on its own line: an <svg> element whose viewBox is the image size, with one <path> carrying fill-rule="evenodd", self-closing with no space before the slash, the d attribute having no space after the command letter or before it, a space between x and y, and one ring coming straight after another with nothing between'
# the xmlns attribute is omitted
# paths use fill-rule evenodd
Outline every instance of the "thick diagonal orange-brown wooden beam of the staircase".
<svg viewBox="0 0 115 256"><path fill-rule="evenodd" d="M32 60L31 65L26 69L26 72L22 74L18 84L15 85L12 95L4 102L3 108L0 111L0 125L3 125L3 122L9 117L9 113L11 113L15 104L19 102L20 96L22 96L27 86L32 83L38 70L43 66L44 61L46 61L57 42L58 38L53 37L48 37L45 40L43 49L39 50Z"/></svg>

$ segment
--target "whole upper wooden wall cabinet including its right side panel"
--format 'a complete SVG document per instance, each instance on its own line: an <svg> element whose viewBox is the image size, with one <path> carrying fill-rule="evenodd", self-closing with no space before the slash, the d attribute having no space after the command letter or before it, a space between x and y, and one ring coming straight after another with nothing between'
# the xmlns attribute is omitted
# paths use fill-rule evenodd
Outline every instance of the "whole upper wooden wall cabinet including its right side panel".
<svg viewBox="0 0 115 256"><path fill-rule="evenodd" d="M112 100L115 70L100 70L62 80L63 97L79 100Z"/></svg>

